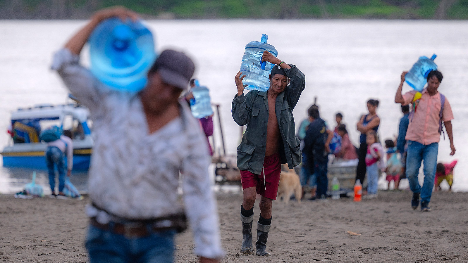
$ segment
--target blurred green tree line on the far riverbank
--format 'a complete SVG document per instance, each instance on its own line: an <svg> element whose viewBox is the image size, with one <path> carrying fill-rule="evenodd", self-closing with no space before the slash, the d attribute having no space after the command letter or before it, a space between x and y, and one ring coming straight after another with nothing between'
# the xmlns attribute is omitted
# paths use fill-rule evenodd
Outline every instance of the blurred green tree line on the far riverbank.
<svg viewBox="0 0 468 263"><path fill-rule="evenodd" d="M86 19L114 5L145 18L468 18L468 0L0 0L0 19Z"/></svg>

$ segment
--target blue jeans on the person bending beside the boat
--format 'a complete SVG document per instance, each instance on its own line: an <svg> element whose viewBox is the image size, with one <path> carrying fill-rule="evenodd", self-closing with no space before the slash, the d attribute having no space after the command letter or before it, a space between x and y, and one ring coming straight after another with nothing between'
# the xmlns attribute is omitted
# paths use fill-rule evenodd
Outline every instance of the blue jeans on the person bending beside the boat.
<svg viewBox="0 0 468 263"><path fill-rule="evenodd" d="M59 171L59 192L63 192L65 186L65 160L62 151L58 147L50 146L45 150L45 162L49 170L49 184L52 192L55 192L55 170L54 164Z"/></svg>

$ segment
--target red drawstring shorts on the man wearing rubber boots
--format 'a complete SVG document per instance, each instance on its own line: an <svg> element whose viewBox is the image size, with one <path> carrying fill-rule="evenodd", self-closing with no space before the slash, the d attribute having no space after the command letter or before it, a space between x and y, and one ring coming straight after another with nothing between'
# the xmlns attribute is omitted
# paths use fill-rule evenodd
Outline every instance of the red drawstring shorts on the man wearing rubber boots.
<svg viewBox="0 0 468 263"><path fill-rule="evenodd" d="M263 171L265 171L265 183L263 183ZM249 187L256 187L257 194L276 200L276 196L278 195L279 175L281 174L279 153L265 157L263 161L263 171L260 175L249 171L241 171L242 190Z"/></svg>

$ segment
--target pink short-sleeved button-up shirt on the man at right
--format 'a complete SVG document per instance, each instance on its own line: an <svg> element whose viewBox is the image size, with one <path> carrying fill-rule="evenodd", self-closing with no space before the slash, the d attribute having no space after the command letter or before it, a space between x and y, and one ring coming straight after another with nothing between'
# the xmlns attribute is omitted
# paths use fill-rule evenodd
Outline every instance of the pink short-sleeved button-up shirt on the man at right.
<svg viewBox="0 0 468 263"><path fill-rule="evenodd" d="M403 95L404 105L413 102L416 90L410 91ZM421 92L421 99L414 113L413 118L409 120L408 131L405 139L417 141L423 145L429 145L440 141L439 133L439 112L442 107L440 103L440 93L430 96L427 90ZM444 122L453 120L452 108L447 98L444 102L444 110L442 111L442 120Z"/></svg>

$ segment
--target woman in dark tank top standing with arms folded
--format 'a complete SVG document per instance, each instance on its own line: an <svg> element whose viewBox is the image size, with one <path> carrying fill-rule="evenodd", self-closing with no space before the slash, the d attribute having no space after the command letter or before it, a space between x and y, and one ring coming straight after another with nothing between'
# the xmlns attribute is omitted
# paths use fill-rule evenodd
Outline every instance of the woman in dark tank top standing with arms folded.
<svg viewBox="0 0 468 263"><path fill-rule="evenodd" d="M366 177L366 153L367 153L367 143L366 143L366 133L368 131L375 131L379 129L380 118L377 116L377 107L379 107L379 101L370 99L367 101L367 110L369 113L363 115L359 120L356 127L358 131L361 132L361 137L359 138L360 146L358 151L358 167L356 168L356 181L359 179L361 183L364 184L364 178Z"/></svg>

